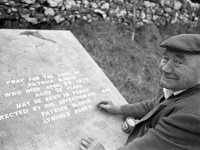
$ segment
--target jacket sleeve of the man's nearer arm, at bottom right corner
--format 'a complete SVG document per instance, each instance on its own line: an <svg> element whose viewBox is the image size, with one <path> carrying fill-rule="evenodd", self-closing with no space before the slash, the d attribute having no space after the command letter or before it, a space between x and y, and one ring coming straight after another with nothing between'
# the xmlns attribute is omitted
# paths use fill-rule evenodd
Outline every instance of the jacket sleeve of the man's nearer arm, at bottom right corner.
<svg viewBox="0 0 200 150"><path fill-rule="evenodd" d="M118 150L199 150L200 117L175 113L163 117L155 128Z"/></svg>

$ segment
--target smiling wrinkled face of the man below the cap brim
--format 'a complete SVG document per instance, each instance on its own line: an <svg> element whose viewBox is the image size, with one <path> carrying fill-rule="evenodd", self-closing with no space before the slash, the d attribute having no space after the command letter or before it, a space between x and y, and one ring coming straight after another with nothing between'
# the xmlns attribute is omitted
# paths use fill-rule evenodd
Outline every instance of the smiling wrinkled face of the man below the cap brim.
<svg viewBox="0 0 200 150"><path fill-rule="evenodd" d="M200 82L200 56L165 50L160 62L160 85L178 91L191 88Z"/></svg>

